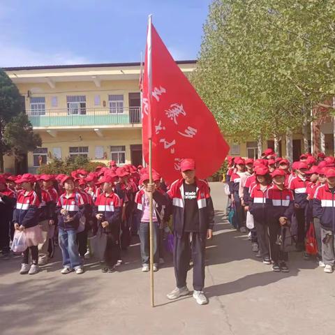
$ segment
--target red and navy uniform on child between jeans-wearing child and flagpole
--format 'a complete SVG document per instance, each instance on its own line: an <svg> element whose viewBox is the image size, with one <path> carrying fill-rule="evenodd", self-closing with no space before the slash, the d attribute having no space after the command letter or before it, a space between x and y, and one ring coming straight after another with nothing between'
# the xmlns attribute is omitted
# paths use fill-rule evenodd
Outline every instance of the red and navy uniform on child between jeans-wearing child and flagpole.
<svg viewBox="0 0 335 335"><path fill-rule="evenodd" d="M114 267L120 257L120 218L121 218L121 200L119 196L112 192L110 194L102 193L96 199L94 210L96 214L102 214L103 219L98 221L98 235L106 235L107 243L105 248L105 262L107 267ZM103 228L101 223L107 221L107 227Z"/></svg>

